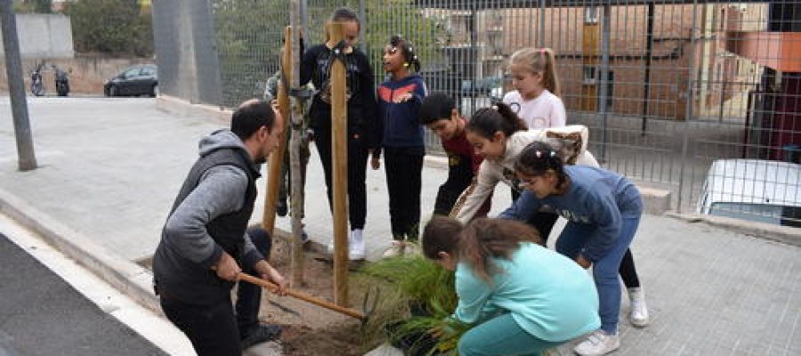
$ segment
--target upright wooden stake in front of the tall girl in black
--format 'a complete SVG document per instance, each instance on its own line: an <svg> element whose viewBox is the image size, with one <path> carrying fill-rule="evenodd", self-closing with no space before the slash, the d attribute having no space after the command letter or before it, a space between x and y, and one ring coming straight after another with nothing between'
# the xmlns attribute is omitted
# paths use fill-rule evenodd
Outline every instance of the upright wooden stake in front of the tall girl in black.
<svg viewBox="0 0 801 356"><path fill-rule="evenodd" d="M344 39L341 23L327 26L332 42ZM334 207L334 303L348 303L348 108L346 71L342 61L331 65L331 155Z"/></svg>

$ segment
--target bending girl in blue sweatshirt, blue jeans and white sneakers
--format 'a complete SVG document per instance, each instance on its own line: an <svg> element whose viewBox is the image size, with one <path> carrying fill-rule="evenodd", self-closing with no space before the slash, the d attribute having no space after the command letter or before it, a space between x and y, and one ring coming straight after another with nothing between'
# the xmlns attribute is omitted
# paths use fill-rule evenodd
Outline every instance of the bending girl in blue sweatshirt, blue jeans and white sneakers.
<svg viewBox="0 0 801 356"><path fill-rule="evenodd" d="M643 199L626 177L591 166L565 166L554 148L533 142L514 164L526 191L500 215L526 220L550 206L568 220L556 251L584 268L593 266L601 302L601 328L576 347L579 355L604 355L620 347L620 260L634 239Z"/></svg>

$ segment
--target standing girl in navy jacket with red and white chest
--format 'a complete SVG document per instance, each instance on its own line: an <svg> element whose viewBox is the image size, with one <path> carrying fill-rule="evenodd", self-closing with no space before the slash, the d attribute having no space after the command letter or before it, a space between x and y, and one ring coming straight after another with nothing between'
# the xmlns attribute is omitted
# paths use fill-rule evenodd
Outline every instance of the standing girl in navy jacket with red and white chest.
<svg viewBox="0 0 801 356"><path fill-rule="evenodd" d="M412 44L392 36L384 47L384 70L389 78L378 87L378 114L384 125L382 149L389 191L393 246L387 255L400 255L404 240L416 241L420 223L420 175L423 172L423 126L418 120L427 93L423 77L412 74L420 61ZM378 169L380 150L372 159Z"/></svg>

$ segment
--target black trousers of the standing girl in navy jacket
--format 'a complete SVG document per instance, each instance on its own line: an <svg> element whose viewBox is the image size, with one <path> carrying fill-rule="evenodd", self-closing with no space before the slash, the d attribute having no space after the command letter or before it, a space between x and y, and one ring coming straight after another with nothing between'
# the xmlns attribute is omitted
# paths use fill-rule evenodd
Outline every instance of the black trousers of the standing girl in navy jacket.
<svg viewBox="0 0 801 356"><path fill-rule="evenodd" d="M384 148L386 188L390 198L392 239L417 241L420 225L420 189L423 147Z"/></svg>

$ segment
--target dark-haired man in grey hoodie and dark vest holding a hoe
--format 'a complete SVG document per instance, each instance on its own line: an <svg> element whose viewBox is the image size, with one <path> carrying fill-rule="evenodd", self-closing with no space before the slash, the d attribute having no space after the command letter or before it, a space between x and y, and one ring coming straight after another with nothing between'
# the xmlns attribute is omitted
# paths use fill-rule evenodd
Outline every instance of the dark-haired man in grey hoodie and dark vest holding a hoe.
<svg viewBox="0 0 801 356"><path fill-rule="evenodd" d="M231 308L231 287L242 268L278 285L273 292L287 288L247 236L255 180L278 147L283 126L266 101L243 102L231 117L231 130L199 142L200 157L167 217L153 257L156 293L166 317L198 355L242 353Z"/></svg>

